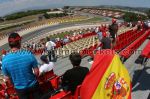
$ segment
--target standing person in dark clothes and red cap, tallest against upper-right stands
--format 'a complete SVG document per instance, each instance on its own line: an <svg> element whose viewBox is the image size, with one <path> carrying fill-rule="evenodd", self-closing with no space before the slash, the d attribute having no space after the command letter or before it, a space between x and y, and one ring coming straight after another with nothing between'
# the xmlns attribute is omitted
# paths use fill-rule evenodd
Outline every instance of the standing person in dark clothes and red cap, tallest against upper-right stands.
<svg viewBox="0 0 150 99"><path fill-rule="evenodd" d="M114 18L112 19L112 24L109 26L109 32L112 38L112 43L115 44L118 32L118 25L117 20Z"/></svg>

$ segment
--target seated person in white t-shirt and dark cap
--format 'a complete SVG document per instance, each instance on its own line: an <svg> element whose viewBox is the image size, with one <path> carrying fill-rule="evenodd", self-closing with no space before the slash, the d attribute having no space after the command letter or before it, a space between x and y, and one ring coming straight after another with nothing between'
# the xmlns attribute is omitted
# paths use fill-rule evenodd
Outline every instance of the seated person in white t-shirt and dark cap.
<svg viewBox="0 0 150 99"><path fill-rule="evenodd" d="M53 62L49 62L46 55L42 55L40 57L40 59L43 62L43 65L41 65L41 67L39 68L40 75L43 74L43 73L46 73L46 72L49 72L49 71L53 70L54 63Z"/></svg>

